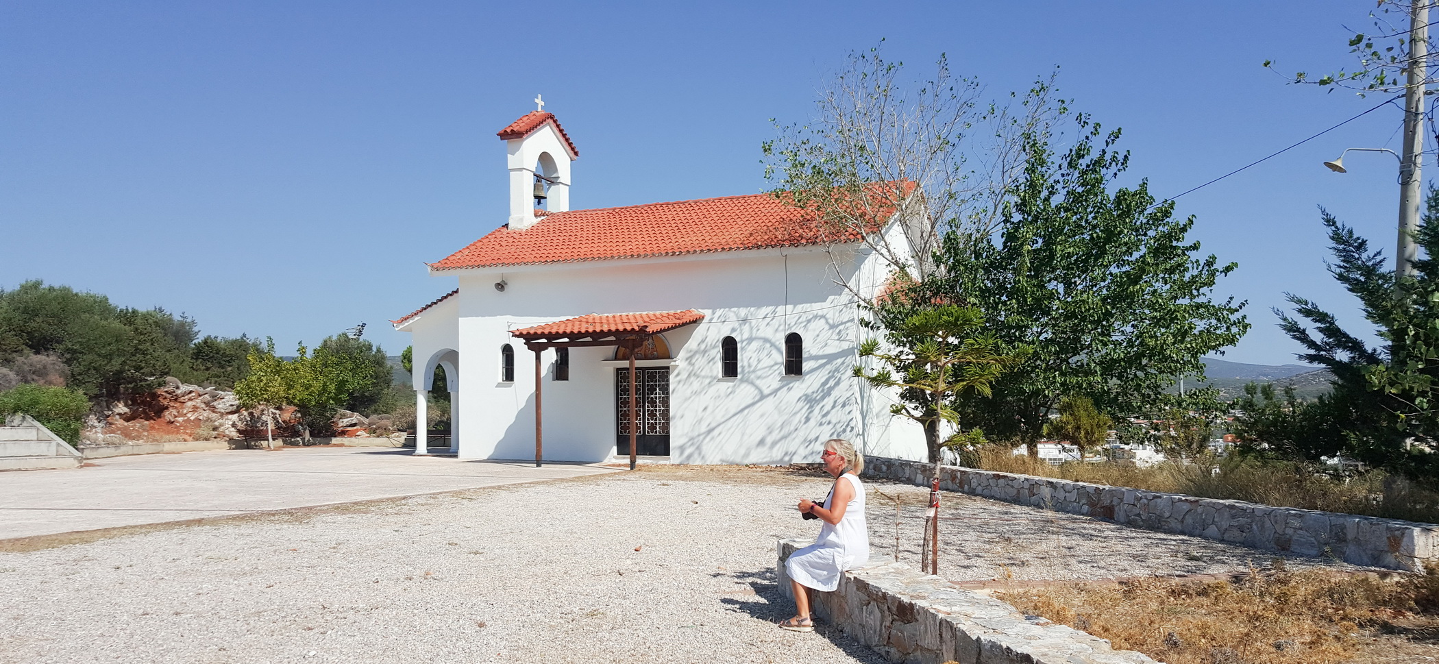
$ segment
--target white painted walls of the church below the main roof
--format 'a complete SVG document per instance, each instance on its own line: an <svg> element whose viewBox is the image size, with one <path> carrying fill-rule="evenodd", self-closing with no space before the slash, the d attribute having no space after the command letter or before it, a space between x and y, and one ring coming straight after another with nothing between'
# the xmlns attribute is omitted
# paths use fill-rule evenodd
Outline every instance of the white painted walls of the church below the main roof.
<svg viewBox="0 0 1439 664"><path fill-rule="evenodd" d="M849 438L865 454L922 458L918 426L891 416L889 400L850 374L866 331L837 279L872 290L884 275L875 262L803 248L475 271L460 275L459 295L404 330L414 333L416 359L459 351L460 458L534 458L534 354L511 330L590 313L685 308L707 315L665 334L673 360L639 363L671 366L675 462L819 461L827 438ZM494 288L501 279L504 292ZM791 331L804 338L803 376L784 376ZM720 376L725 336L740 347L734 379ZM515 349L512 383L499 380L507 343ZM626 363L610 357L609 347L571 349L570 380L557 382L554 351L543 354L547 459L613 454L614 370Z"/></svg>

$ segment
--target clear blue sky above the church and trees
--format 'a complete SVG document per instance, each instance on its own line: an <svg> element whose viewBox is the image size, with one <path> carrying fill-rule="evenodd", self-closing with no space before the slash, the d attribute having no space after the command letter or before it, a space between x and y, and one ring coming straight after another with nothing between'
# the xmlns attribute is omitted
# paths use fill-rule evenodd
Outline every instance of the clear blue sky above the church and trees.
<svg viewBox="0 0 1439 664"><path fill-rule="evenodd" d="M945 52L997 97L1061 65L1122 127L1130 174L1173 196L1377 99L1261 68L1348 65L1370 1L1309 3L0 3L0 287L42 278L163 305L281 350L453 288L437 261L505 222L495 131L544 94L580 148L573 207L755 193L768 118L803 121L845 53ZM1357 324L1317 206L1393 254L1384 108L1184 196L1253 331L1226 359L1294 362L1282 292ZM1436 173L1433 160L1427 174Z"/></svg>

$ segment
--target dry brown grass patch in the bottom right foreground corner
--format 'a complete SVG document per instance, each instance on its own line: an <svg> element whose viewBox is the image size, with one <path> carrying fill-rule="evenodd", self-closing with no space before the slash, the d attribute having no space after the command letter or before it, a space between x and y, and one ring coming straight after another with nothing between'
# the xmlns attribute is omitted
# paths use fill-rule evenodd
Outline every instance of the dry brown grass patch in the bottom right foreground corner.
<svg viewBox="0 0 1439 664"><path fill-rule="evenodd" d="M1288 573L1281 567L1229 580L1076 583L997 596L1168 664L1384 661L1389 655L1366 657L1374 650L1371 635L1439 628L1439 575L1433 573Z"/></svg>

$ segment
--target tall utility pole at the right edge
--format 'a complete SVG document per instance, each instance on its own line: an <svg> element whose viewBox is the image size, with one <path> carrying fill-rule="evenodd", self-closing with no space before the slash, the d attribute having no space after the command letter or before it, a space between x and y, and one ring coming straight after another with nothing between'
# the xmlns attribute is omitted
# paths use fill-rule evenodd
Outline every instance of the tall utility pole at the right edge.
<svg viewBox="0 0 1439 664"><path fill-rule="evenodd" d="M1409 16L1409 79L1404 86L1404 153L1399 166L1399 248L1394 251L1394 275L1415 274L1415 230L1419 228L1419 200L1423 196L1425 134L1425 62L1429 59L1429 0L1413 0Z"/></svg>

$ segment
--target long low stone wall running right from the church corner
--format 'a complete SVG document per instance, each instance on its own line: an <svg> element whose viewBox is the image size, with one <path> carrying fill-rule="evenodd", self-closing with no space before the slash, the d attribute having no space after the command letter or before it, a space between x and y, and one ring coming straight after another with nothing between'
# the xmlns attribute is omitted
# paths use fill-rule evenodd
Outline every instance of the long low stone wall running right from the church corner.
<svg viewBox="0 0 1439 664"><path fill-rule="evenodd" d="M866 458L865 477L928 487L934 464ZM1439 526L1331 511L1269 507L1048 477L940 467L940 488L1105 521L1232 542L1299 556L1417 572L1439 553Z"/></svg>

